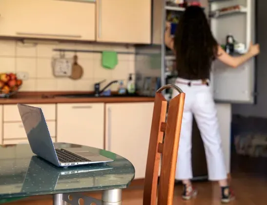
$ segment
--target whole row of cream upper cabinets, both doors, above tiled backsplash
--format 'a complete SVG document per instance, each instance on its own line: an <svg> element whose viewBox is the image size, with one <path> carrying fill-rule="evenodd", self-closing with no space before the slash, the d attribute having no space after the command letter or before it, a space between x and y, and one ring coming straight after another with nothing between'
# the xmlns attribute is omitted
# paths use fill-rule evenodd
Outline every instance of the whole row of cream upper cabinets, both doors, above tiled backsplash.
<svg viewBox="0 0 267 205"><path fill-rule="evenodd" d="M0 36L151 43L151 0L0 0Z"/></svg>

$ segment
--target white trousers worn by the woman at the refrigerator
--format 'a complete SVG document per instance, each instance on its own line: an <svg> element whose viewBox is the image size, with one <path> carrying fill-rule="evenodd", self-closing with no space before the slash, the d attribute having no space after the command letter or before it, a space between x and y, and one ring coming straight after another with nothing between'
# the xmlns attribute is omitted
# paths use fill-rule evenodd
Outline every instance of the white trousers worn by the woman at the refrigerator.
<svg viewBox="0 0 267 205"><path fill-rule="evenodd" d="M210 86L193 85L201 81L190 81L191 86L178 82L189 82L177 79L176 85L185 92L185 107L180 135L175 179L192 179L192 122L193 115L197 122L205 147L208 179L219 181L226 179L226 166L222 150L217 110ZM173 97L178 92L173 93Z"/></svg>

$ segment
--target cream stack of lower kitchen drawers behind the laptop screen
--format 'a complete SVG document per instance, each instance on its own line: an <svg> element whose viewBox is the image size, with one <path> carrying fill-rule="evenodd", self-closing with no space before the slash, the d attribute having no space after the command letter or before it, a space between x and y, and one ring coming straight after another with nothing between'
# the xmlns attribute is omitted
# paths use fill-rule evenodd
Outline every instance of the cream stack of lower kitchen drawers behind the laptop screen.
<svg viewBox="0 0 267 205"><path fill-rule="evenodd" d="M52 138L56 141L56 104L29 104L41 107L47 127ZM16 104L2 105L2 144L28 143L21 116Z"/></svg>

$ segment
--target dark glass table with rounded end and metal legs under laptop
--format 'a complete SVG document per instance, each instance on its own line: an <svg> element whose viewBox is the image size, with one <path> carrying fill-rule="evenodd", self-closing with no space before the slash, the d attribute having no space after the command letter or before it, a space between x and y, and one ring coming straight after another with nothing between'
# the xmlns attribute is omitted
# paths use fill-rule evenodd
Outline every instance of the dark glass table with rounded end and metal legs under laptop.
<svg viewBox="0 0 267 205"><path fill-rule="evenodd" d="M55 148L79 147L113 159L114 162L75 167L57 167L34 155L29 144L0 146L0 200L53 195L53 205L120 205L122 189L134 179L134 166L109 151L69 143ZM79 192L103 191L102 200Z"/></svg>

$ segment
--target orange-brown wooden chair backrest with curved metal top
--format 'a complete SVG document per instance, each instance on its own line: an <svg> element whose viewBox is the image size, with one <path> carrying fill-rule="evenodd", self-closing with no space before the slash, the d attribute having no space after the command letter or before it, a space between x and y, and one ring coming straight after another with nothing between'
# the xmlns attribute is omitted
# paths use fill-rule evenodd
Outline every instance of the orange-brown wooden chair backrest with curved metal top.
<svg viewBox="0 0 267 205"><path fill-rule="evenodd" d="M180 93L170 100L168 105L161 94L166 88L173 88ZM156 93L145 171L143 205L172 205L184 103L185 93L175 85L164 85ZM158 184L160 162L163 168L161 168Z"/></svg>

